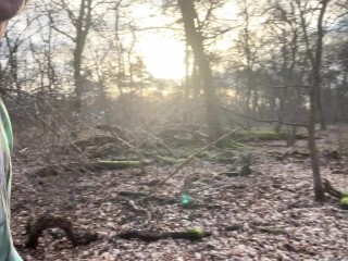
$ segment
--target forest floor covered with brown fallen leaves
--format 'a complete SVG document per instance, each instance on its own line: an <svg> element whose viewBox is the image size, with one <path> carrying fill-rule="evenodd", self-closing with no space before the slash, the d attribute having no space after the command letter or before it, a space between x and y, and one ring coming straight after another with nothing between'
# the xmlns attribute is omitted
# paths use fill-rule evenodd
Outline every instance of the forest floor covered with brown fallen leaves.
<svg viewBox="0 0 348 261"><path fill-rule="evenodd" d="M318 140L322 175L339 190L348 190L348 163L332 159L334 137ZM307 147L297 141L298 150ZM228 177L234 166L195 159L156 190L162 199L144 201L120 196L122 190L148 191L153 181L164 179L174 166L150 165L139 170L34 174L34 167L14 161L12 227L14 244L24 260L348 260L348 210L336 199L314 202L308 157L289 153L284 141L250 145L249 176ZM294 149L293 149L294 150ZM282 157L284 156L284 157ZM179 192L185 176L197 174L190 192L195 206L184 208ZM151 213L129 207L129 200ZM47 229L36 249L25 249L30 216L54 213L73 222L75 229L98 233L98 239L73 247L65 234ZM187 231L212 235L200 240L164 238L146 243L121 239L126 231Z"/></svg>

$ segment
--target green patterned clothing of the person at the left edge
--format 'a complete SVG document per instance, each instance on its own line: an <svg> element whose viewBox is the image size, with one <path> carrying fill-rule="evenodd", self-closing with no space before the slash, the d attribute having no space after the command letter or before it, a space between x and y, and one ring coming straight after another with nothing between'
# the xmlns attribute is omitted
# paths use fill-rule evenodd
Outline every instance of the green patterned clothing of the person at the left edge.
<svg viewBox="0 0 348 261"><path fill-rule="evenodd" d="M22 261L13 247L10 229L12 127L0 99L0 261Z"/></svg>

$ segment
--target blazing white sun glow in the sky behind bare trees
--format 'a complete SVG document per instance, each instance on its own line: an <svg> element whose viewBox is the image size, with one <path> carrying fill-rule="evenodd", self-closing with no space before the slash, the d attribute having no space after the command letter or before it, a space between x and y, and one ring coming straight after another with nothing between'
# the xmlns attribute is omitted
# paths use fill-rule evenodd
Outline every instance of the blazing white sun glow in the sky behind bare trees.
<svg viewBox="0 0 348 261"><path fill-rule="evenodd" d="M156 78L181 79L185 76L185 45L161 35L146 35L140 41L145 64Z"/></svg>

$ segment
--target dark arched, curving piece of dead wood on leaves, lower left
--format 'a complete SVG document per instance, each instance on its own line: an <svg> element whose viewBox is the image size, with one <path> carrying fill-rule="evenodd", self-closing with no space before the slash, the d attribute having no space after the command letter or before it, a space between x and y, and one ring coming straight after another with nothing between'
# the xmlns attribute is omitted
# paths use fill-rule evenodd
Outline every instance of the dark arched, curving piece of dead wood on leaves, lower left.
<svg viewBox="0 0 348 261"><path fill-rule="evenodd" d="M54 216L52 214L45 214L40 216L34 225L27 226L28 240L25 245L26 248L35 249L38 245L38 239L42 235L42 232L47 228L61 228L65 232L67 239L74 247L78 245L87 245L97 240L98 235L96 233L76 234L73 232L73 224L71 221Z"/></svg>

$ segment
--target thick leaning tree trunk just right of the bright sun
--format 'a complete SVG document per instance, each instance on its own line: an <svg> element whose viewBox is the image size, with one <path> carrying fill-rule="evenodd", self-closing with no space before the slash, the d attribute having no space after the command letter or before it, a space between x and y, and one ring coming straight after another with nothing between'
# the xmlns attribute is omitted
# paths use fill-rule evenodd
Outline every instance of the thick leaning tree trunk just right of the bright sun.
<svg viewBox="0 0 348 261"><path fill-rule="evenodd" d="M219 119L219 100L216 89L213 84L210 62L207 59L203 48L203 38L199 29L195 25L197 13L194 5L194 0L178 0L181 9L187 45L192 48L195 62L199 69L199 76L202 80L203 91L206 97L207 123L210 130L211 139L216 139L221 136L221 126Z"/></svg>

